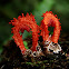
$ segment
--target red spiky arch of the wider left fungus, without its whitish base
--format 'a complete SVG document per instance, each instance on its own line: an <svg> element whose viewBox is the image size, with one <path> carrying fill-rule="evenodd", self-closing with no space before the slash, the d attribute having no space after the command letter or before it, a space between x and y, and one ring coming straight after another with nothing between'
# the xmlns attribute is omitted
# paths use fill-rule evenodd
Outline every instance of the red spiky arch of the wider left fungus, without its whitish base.
<svg viewBox="0 0 69 69"><path fill-rule="evenodd" d="M19 46L20 50L22 53L24 53L24 51L27 50L24 48L23 45L23 40L22 40L22 36L20 36L19 31L23 32L24 30L27 30L28 32L32 31L32 51L36 51L36 48L38 46L38 24L34 20L34 16L27 13L26 17L22 13L22 17L19 16L18 19L13 18L13 20L11 20L12 26L14 26L12 28L12 33L13 33L13 39L14 42L17 43L17 46Z"/></svg>

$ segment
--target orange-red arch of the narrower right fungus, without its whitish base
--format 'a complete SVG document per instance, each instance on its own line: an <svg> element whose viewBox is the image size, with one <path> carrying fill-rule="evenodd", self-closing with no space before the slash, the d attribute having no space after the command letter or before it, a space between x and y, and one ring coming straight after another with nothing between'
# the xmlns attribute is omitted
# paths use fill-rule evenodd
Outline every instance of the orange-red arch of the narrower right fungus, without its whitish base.
<svg viewBox="0 0 69 69"><path fill-rule="evenodd" d="M47 11L46 13L43 13L43 19L41 21L41 36L43 38L43 41L48 40L49 41L49 31L48 31L48 27L55 27L53 29L53 34L51 37L51 41L57 43L59 36L60 36L60 22L59 19L57 18L57 14L53 16L53 13L51 11Z"/></svg>

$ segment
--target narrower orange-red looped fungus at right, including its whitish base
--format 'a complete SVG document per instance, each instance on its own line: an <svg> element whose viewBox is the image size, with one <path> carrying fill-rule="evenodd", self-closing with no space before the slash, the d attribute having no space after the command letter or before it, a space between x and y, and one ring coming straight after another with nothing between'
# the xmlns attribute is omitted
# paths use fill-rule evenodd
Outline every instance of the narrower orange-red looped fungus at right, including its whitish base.
<svg viewBox="0 0 69 69"><path fill-rule="evenodd" d="M60 30L61 30L59 19L57 18L57 14L53 16L53 13L51 11L49 11L49 12L47 11L46 13L43 13L42 17L43 17L43 19L41 21L40 29L41 29L41 36L43 38L43 42L46 45L45 46L46 52L53 50L55 53L58 53L59 51L61 51L61 47L58 43L58 39L60 36ZM48 31L48 27L50 27L50 26L55 27L52 37L49 36L49 31Z"/></svg>

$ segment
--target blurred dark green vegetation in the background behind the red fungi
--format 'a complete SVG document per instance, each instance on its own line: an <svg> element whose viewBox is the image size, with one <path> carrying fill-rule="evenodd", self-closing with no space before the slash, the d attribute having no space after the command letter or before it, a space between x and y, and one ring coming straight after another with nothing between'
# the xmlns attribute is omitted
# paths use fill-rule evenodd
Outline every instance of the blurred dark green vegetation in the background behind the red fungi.
<svg viewBox="0 0 69 69"><path fill-rule="evenodd" d="M0 0L0 53L2 45L12 39L10 20L18 18L21 13L31 12L40 24L42 13L50 10L60 18L61 31L68 32L69 0ZM23 38L28 36L30 34L26 31Z"/></svg>

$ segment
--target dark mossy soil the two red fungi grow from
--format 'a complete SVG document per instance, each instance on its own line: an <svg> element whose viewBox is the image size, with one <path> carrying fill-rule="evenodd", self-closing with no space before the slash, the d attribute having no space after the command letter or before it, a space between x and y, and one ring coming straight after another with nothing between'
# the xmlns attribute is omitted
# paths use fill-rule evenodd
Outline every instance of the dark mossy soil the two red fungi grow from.
<svg viewBox="0 0 69 69"><path fill-rule="evenodd" d="M41 37L39 40L42 41ZM28 42L29 48L32 46L30 38L24 41ZM47 53L36 58L27 57L24 59L19 47L11 40L3 46L0 69L69 69L69 34L62 33L59 38L59 43L62 52Z"/></svg>

